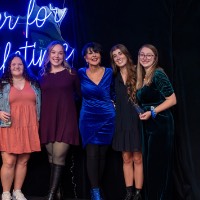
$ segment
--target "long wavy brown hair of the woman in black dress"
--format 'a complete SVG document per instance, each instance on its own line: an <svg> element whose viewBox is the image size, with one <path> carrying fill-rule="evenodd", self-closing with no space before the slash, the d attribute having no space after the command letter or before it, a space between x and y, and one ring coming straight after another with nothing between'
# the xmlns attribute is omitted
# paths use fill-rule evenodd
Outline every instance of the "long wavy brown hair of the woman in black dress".
<svg viewBox="0 0 200 200"><path fill-rule="evenodd" d="M127 58L126 68L127 68L127 80L126 80L126 86L127 86L127 93L129 95L129 99L132 102L136 102L136 67L133 63L131 54L129 53L128 49L123 44L117 44L113 46L110 50L110 59L111 59L111 65L113 68L114 75L117 74L119 71L119 67L117 67L114 59L113 59L113 51L119 49Z"/></svg>

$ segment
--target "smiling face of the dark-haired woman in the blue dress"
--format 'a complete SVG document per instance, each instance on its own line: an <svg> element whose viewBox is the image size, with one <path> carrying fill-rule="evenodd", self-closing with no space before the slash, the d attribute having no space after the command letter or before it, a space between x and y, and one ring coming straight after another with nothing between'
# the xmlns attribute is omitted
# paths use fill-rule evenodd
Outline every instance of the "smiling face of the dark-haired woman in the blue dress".
<svg viewBox="0 0 200 200"><path fill-rule="evenodd" d="M94 52L92 49L87 50L84 58L90 66L99 66L101 63L101 54L99 52Z"/></svg>

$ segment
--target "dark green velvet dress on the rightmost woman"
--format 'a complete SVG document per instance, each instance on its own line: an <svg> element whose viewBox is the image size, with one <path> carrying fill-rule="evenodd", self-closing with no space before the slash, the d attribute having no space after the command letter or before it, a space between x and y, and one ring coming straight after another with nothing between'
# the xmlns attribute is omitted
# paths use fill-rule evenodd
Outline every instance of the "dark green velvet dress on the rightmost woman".
<svg viewBox="0 0 200 200"><path fill-rule="evenodd" d="M151 85L138 90L138 103L148 111L150 106L158 106L173 92L166 74L156 69ZM158 113L155 119L143 121L145 200L172 200L173 138L174 121L169 109Z"/></svg>

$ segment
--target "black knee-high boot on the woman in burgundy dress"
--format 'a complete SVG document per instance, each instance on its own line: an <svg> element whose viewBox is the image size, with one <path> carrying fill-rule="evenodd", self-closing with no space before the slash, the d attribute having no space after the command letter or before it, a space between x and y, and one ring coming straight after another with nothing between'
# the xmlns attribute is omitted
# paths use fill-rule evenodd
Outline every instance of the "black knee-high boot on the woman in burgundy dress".
<svg viewBox="0 0 200 200"><path fill-rule="evenodd" d="M64 168L63 165L52 164L50 188L49 188L49 193L48 193L46 200L55 200L56 199L56 193L57 193L57 189L60 184L63 168Z"/></svg>

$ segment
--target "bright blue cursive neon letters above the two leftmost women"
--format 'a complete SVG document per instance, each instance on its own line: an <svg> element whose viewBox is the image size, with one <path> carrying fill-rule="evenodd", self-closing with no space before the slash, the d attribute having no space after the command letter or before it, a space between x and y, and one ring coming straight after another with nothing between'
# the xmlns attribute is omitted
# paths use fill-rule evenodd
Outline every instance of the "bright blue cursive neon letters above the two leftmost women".
<svg viewBox="0 0 200 200"><path fill-rule="evenodd" d="M26 32L25 32L26 39L29 38L29 26L35 24L37 28L41 28L49 17L51 17L51 19L53 19L53 21L60 26L61 21L67 12L67 8L59 9L49 4L49 7L43 6L35 14L34 13L35 5L36 5L35 0L30 0L26 16ZM17 26L19 19L20 16L13 17L7 14L6 12L4 12L4 18L3 18L2 14L0 13L0 29L2 29L8 21L9 30L13 30ZM19 47L18 48L19 50L15 51L15 53L24 55L24 59L26 60L28 67L30 67L31 65L34 66L38 65L39 67L41 67L44 56L46 54L46 50L41 49L39 52L37 51L36 53L36 47L37 47L36 42L34 44L28 44L28 41L25 41L25 45ZM71 48L67 43L64 44L64 47L67 52L66 60L68 60L74 54L74 49ZM7 42L4 50L3 64L1 65L0 70L4 70L5 62L11 50L12 50L12 43Z"/></svg>

